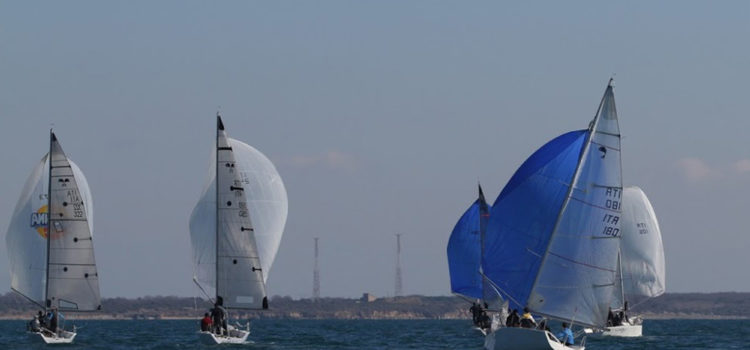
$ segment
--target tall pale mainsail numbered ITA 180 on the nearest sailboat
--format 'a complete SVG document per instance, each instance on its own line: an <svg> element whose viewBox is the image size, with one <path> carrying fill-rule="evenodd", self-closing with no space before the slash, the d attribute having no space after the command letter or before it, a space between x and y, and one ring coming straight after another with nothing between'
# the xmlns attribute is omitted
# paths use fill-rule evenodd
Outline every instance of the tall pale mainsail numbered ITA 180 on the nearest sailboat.
<svg viewBox="0 0 750 350"><path fill-rule="evenodd" d="M589 130L572 189L529 296L540 314L604 327L620 245L620 130L612 86Z"/></svg>

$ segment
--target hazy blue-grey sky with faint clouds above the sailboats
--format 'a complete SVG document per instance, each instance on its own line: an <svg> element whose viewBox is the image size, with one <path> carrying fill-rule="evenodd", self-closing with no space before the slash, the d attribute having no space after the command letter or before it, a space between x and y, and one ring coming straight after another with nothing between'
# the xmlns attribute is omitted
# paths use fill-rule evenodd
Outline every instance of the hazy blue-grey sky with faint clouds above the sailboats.
<svg viewBox="0 0 750 350"><path fill-rule="evenodd" d="M750 2L0 2L0 230L54 130L86 174L104 297L197 296L188 217L220 110L289 196L270 295L450 295L481 181L585 128L615 78L625 185L669 292L750 292ZM4 240L0 241L4 242ZM0 249L0 291L10 290Z"/></svg>

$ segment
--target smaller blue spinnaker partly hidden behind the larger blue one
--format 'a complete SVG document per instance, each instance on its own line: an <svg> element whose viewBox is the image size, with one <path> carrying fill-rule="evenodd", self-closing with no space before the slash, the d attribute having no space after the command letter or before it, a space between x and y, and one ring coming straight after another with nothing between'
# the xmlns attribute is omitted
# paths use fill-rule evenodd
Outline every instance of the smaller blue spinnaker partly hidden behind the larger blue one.
<svg viewBox="0 0 750 350"><path fill-rule="evenodd" d="M479 187L479 198L458 220L448 240L448 270L453 293L476 299L484 297L480 267L483 232L489 216L490 207Z"/></svg>

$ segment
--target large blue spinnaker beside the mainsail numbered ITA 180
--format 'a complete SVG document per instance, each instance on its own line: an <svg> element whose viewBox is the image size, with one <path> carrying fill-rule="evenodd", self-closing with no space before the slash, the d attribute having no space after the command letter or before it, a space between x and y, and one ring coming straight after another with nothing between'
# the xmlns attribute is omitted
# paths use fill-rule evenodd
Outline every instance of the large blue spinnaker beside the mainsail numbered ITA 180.
<svg viewBox="0 0 750 350"><path fill-rule="evenodd" d="M587 134L568 132L534 152L492 206L482 269L513 308L526 306Z"/></svg>

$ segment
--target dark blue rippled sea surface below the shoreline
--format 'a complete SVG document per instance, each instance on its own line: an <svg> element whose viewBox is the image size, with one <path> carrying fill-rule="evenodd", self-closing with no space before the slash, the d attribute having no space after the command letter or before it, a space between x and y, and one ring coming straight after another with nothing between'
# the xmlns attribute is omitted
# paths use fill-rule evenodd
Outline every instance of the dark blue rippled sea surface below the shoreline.
<svg viewBox="0 0 750 350"><path fill-rule="evenodd" d="M196 321L75 321L71 345L36 344L0 321L0 349L482 349L469 320L255 320L249 342L205 346ZM553 332L556 331L553 328ZM646 320L635 339L588 337L586 349L750 349L750 320Z"/></svg>

